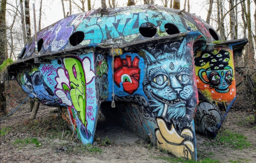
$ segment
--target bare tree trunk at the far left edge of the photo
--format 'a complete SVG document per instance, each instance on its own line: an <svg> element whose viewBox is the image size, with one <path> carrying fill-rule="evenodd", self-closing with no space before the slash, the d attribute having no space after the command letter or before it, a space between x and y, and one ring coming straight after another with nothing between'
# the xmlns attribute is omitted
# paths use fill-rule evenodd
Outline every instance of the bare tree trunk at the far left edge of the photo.
<svg viewBox="0 0 256 163"><path fill-rule="evenodd" d="M5 12L6 12L6 0L1 0L0 5L0 65L6 60L6 21L5 21ZM6 113L6 96L5 92L5 83L4 83L4 74L0 74L0 114Z"/></svg>

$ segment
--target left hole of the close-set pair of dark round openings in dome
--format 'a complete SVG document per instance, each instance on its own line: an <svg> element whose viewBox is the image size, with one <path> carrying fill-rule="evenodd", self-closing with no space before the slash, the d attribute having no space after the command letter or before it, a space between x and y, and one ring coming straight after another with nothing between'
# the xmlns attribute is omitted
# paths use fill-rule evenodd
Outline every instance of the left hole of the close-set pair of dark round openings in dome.
<svg viewBox="0 0 256 163"><path fill-rule="evenodd" d="M139 33L144 37L153 37L157 34L157 27L150 22L146 22L139 27Z"/></svg>

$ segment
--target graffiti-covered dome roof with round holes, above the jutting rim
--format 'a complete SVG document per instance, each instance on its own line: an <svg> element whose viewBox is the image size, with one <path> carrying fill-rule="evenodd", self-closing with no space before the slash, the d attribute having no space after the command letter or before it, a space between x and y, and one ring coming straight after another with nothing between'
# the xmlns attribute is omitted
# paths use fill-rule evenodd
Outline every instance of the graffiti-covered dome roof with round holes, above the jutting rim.
<svg viewBox="0 0 256 163"><path fill-rule="evenodd" d="M188 12L157 5L125 6L70 15L37 33L38 56L56 55L84 47L126 46L141 40L200 31L205 43L219 35L205 21ZM34 37L18 60L35 54Z"/></svg>

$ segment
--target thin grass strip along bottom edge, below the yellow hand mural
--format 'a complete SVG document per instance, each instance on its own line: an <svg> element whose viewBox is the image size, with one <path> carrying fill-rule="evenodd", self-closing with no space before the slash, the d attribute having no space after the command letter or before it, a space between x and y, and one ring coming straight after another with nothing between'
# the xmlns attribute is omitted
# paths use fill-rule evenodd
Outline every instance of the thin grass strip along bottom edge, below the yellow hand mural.
<svg viewBox="0 0 256 163"><path fill-rule="evenodd" d="M176 163L176 162L185 162L185 163L219 163L220 161L219 160L215 160L215 159L211 159L211 158L205 158L205 159L200 159L198 161L196 160L185 160L185 159L182 159L182 158L174 158L174 157L154 157L156 159L163 159L163 160L166 160L168 162L173 162L173 163Z"/></svg>

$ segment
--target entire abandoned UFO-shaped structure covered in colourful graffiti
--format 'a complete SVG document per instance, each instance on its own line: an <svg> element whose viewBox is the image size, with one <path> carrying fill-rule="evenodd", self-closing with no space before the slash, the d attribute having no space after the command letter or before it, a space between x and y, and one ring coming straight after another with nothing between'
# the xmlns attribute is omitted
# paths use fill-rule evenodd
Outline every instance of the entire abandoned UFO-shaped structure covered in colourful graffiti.
<svg viewBox="0 0 256 163"><path fill-rule="evenodd" d="M219 42L196 15L157 5L70 15L37 40L38 54L33 38L9 73L29 96L61 107L84 144L94 140L100 109L189 159L195 130L214 138L235 100L233 54L247 42Z"/></svg>

